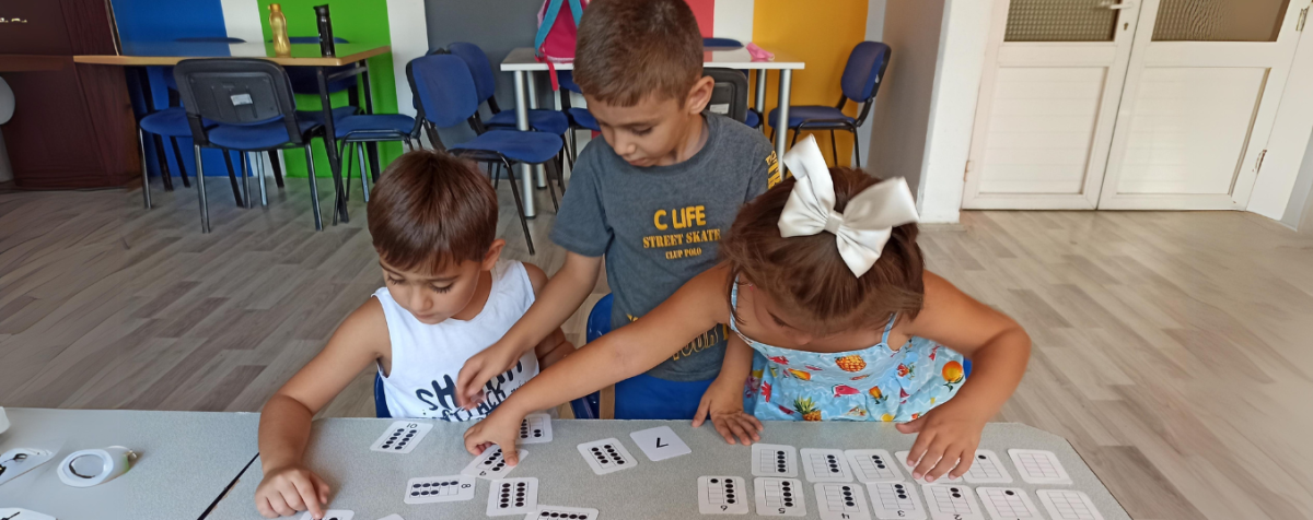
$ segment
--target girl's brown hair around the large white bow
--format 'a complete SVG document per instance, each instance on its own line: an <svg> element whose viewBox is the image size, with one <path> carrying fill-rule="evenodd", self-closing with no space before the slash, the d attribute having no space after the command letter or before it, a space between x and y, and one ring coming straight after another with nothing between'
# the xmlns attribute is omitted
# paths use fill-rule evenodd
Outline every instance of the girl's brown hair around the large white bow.
<svg viewBox="0 0 1313 520"><path fill-rule="evenodd" d="M850 168L831 168L830 176L838 212L878 182ZM752 283L793 318L790 325L813 333L884 326L893 313L915 317L926 293L916 224L894 228L876 265L853 276L839 257L834 234L780 236L780 212L793 185L793 178L785 179L739 210L720 248L730 269L729 289L735 283ZM737 313L734 320L739 320Z"/></svg>

